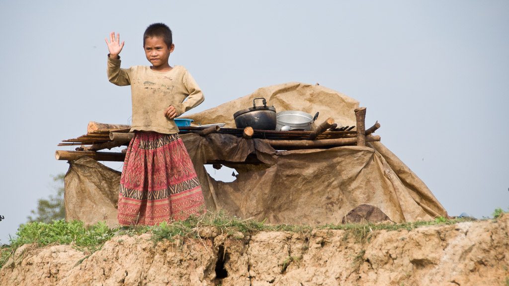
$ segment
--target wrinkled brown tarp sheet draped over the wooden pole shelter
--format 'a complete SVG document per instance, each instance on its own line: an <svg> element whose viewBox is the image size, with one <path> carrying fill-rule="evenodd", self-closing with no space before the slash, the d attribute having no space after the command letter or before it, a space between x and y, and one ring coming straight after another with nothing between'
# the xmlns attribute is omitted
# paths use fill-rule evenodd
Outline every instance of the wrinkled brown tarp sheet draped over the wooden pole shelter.
<svg viewBox="0 0 509 286"><path fill-rule="evenodd" d="M303 83L262 88L186 118L234 127L233 112L252 106L255 97L265 97L278 111L320 111L323 120L332 117L343 125L355 125L357 101ZM276 151L264 140L228 134L185 134L182 139L211 211L224 209L243 218L295 224L340 223L362 204L379 208L394 222L447 216L428 187L380 142L368 147ZM204 166L212 160L244 162L250 154L263 164L235 165L239 174L234 182L215 181ZM70 162L65 180L67 219L115 225L119 181L118 171L93 159Z"/></svg>

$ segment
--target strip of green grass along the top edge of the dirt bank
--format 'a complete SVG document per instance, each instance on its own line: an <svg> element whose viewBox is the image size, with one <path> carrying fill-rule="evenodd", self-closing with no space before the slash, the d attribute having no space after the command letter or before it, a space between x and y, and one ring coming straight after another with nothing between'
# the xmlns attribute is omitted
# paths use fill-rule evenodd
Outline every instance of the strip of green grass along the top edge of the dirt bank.
<svg viewBox="0 0 509 286"><path fill-rule="evenodd" d="M240 219L230 217L224 212L207 213L199 217L190 217L183 221L160 223L155 226L123 226L110 229L106 224L99 222L91 226L84 226L83 222L56 220L52 223L30 222L19 227L16 237L10 240L10 245L0 246L0 268L3 267L18 247L23 244L34 244L43 247L51 244L67 244L90 255L99 250L104 243L115 235L152 234L154 243L167 239L173 241L177 237L199 237L199 231L205 227L213 227L217 233L250 235L261 231L286 231L297 233L310 233L314 228L325 230L345 230L345 238L354 236L364 240L370 232L378 230L397 231L412 230L426 225L454 224L466 219L437 218L434 221L417 221L400 224L385 223L348 223L326 224L322 226L292 225L292 224L266 224L265 221L254 219ZM234 236L235 237L235 236Z"/></svg>

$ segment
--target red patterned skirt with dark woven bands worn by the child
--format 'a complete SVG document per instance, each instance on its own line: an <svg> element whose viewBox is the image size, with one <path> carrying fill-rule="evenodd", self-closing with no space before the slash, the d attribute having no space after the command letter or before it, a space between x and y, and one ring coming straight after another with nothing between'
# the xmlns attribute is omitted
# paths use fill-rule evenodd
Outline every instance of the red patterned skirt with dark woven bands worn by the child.
<svg viewBox="0 0 509 286"><path fill-rule="evenodd" d="M135 132L120 178L119 223L154 225L204 211L202 188L179 135Z"/></svg>

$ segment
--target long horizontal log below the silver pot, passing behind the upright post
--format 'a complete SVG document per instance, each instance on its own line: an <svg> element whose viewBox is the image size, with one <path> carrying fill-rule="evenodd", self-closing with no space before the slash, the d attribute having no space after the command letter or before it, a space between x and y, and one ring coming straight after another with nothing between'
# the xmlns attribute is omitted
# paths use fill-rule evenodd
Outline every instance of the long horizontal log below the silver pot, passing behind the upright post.
<svg viewBox="0 0 509 286"><path fill-rule="evenodd" d="M367 142L380 141L380 136L367 136L364 139ZM323 140L268 140L265 139L272 148L278 150L286 149L313 149L323 147L338 147L355 145L357 138L337 138L337 139L323 139Z"/></svg>

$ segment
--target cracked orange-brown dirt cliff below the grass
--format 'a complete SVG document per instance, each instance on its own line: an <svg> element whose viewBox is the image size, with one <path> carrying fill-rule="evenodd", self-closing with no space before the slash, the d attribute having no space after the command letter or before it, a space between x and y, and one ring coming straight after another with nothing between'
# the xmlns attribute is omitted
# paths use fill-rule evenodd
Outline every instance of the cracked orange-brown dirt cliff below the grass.
<svg viewBox="0 0 509 286"><path fill-rule="evenodd" d="M91 255L25 245L0 285L509 285L509 215L414 230L314 230L163 240L116 236Z"/></svg>

